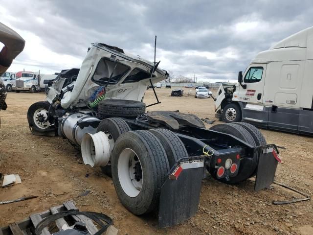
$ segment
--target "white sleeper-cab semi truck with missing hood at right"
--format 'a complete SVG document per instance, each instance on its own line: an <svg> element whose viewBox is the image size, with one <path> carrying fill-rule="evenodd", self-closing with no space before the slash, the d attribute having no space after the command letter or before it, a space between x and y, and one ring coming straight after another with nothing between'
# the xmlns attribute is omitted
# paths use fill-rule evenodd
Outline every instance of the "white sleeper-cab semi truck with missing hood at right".
<svg viewBox="0 0 313 235"><path fill-rule="evenodd" d="M260 52L239 72L238 83L222 84L215 111L226 122L313 134L313 27Z"/></svg>

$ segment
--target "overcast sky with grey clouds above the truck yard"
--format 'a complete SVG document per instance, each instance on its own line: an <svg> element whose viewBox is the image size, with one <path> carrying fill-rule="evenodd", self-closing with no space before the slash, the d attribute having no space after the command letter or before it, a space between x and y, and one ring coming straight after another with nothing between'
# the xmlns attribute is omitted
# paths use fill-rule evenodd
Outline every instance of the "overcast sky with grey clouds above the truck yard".
<svg viewBox="0 0 313 235"><path fill-rule="evenodd" d="M0 0L0 15L26 41L10 71L79 68L93 42L153 60L157 35L160 68L216 82L237 79L259 51L313 26L313 2Z"/></svg>

